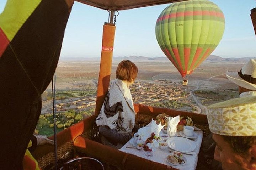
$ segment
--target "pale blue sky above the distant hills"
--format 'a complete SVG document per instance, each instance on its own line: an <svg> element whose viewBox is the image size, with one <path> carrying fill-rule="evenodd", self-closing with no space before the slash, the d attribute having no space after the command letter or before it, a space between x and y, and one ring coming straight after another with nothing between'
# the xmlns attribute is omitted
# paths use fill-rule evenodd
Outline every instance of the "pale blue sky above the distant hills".
<svg viewBox="0 0 256 170"><path fill-rule="evenodd" d="M256 57L256 36L250 10L255 0L210 0L223 11L225 31L212 55ZM0 0L0 13L6 0ZM163 57L155 37L156 19L170 4L118 11L113 56ZM108 11L75 2L63 39L60 58L100 57L102 30Z"/></svg>

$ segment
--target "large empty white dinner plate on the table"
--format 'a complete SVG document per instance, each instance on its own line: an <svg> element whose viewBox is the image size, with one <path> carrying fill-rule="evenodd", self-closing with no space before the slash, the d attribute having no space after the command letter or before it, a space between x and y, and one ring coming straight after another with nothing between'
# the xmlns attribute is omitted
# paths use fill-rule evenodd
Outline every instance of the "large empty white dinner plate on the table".
<svg viewBox="0 0 256 170"><path fill-rule="evenodd" d="M184 137L171 137L166 142L171 149L179 152L191 152L196 149L196 144Z"/></svg>

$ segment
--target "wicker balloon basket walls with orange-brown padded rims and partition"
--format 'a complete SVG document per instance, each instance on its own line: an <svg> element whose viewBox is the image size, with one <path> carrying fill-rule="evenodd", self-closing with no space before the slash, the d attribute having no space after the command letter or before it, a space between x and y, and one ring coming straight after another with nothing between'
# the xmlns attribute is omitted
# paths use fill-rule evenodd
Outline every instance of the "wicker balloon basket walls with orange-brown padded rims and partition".
<svg viewBox="0 0 256 170"><path fill-rule="evenodd" d="M156 115L166 113L170 116L189 116L192 118L194 125L203 130L204 136L210 133L206 115L140 104L134 104L134 109L137 112L135 123L139 127L147 125ZM62 166L63 162L75 156L88 156L100 160L107 170L175 169L102 145L100 143L98 128L95 124L95 118L96 116L92 116L84 119L82 122L65 129L65 131L57 135L58 140L60 140L58 142L59 166ZM37 149L34 155L42 169L54 169L53 148L50 152Z"/></svg>

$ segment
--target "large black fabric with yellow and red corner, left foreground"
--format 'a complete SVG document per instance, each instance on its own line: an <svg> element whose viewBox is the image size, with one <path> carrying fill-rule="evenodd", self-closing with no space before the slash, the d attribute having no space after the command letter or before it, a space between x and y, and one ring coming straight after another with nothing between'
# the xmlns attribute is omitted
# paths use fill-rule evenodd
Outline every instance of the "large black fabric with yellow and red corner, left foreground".
<svg viewBox="0 0 256 170"><path fill-rule="evenodd" d="M0 14L0 169L22 169L41 94L57 67L67 1L7 0Z"/></svg>

